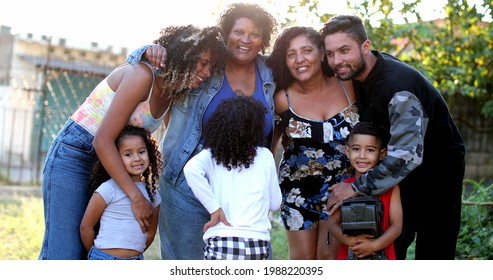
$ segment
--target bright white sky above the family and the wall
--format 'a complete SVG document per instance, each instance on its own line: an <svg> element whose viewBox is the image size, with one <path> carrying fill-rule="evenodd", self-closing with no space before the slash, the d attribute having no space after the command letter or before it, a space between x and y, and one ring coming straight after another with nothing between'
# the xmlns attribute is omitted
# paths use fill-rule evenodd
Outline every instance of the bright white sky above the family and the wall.
<svg viewBox="0 0 493 280"><path fill-rule="evenodd" d="M241 1L241 0L240 0ZM445 0L424 0L434 4ZM234 0L3 0L0 4L0 25L10 26L13 34L32 33L65 38L67 44L83 45L97 42L133 50L151 43L161 28L169 25L214 25L221 11ZM246 0L262 5L274 16L280 16L287 5L298 0ZM266 3L267 2L267 3ZM269 4L270 2L270 4ZM345 1L321 1L328 13L348 12ZM274 3L274 4L272 4ZM321 4L322 5L322 4ZM322 5L323 6L323 5ZM433 11L426 9L427 11ZM306 14L297 20L310 25ZM318 26L314 26L318 29Z"/></svg>

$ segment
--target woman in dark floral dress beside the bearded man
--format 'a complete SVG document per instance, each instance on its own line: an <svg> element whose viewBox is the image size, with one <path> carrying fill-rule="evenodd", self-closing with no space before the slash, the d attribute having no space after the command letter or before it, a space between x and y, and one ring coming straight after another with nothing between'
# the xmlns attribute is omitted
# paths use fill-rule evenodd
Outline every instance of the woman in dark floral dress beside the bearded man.
<svg viewBox="0 0 493 280"><path fill-rule="evenodd" d="M282 137L284 144L279 181L290 259L336 258L328 189L352 175L344 145L359 120L356 97L351 82L328 68L324 50L319 32L296 26L282 32L267 59L277 85L273 143Z"/></svg>

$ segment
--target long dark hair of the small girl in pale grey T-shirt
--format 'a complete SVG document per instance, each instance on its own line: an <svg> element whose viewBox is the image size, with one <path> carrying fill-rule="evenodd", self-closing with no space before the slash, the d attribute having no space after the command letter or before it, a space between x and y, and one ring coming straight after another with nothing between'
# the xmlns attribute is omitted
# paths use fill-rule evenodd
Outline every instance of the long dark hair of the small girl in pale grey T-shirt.
<svg viewBox="0 0 493 280"><path fill-rule="evenodd" d="M117 147L120 146L123 139L127 136L140 136L144 139L147 148L147 154L149 156L149 167L142 173L142 181L146 182L146 190L149 194L149 198L154 202L154 194L159 187L159 173L163 167L163 162L161 160L161 153L159 152L159 146L157 141L152 137L152 135L142 127L136 127L127 125L118 138L115 141ZM97 161L94 166L90 181L89 190L93 193L102 183L110 179L110 175L104 169L101 161Z"/></svg>

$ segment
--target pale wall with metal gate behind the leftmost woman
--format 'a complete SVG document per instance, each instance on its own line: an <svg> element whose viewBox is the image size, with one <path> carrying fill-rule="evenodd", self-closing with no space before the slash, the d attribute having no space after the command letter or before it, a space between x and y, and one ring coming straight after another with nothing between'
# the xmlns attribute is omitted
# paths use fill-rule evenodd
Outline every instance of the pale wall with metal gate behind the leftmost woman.
<svg viewBox="0 0 493 280"><path fill-rule="evenodd" d="M56 133L126 55L124 48L71 45L1 26L0 177L36 182Z"/></svg>

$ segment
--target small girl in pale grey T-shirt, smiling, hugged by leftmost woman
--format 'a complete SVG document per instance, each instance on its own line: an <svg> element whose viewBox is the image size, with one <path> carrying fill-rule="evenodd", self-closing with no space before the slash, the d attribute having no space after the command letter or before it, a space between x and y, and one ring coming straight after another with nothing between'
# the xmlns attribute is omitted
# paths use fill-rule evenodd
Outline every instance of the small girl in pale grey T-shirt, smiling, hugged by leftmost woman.
<svg viewBox="0 0 493 280"><path fill-rule="evenodd" d="M149 230L142 232L132 212L130 198L98 161L90 180L94 192L80 224L80 236L89 252L89 260L143 260L143 253L157 231L161 153L156 140L142 127L126 126L115 145L128 175L152 204Z"/></svg>

